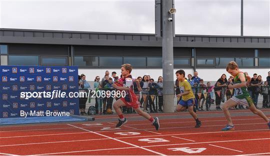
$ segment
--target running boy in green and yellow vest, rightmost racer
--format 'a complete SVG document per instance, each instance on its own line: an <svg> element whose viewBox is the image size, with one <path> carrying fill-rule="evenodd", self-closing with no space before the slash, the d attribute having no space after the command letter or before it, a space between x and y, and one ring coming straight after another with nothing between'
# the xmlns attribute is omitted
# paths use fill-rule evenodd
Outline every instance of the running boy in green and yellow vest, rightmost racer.
<svg viewBox="0 0 270 156"><path fill-rule="evenodd" d="M244 72L239 70L239 67L235 61L230 61L227 64L226 70L229 74L231 74L234 77L233 85L231 85L231 84L228 85L229 89L232 89L232 88L234 89L234 94L222 106L222 110L223 110L224 115L228 121L228 124L221 130L222 131L234 130L234 125L232 123L228 108L233 107L237 104L242 104L242 105L248 106L249 109L254 114L259 115L261 118L263 118L265 120L265 122L267 123L267 125L270 129L269 118L261 110L259 110L255 107L251 97L249 96L249 94L246 90L246 86L249 85L251 78L247 74L245 74Z"/></svg>

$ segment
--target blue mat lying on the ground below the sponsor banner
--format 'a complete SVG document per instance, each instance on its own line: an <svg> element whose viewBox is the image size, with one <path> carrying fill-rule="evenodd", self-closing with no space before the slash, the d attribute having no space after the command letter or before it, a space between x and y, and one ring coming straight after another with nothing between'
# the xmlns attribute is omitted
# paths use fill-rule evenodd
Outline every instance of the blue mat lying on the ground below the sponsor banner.
<svg viewBox="0 0 270 156"><path fill-rule="evenodd" d="M0 125L23 124L23 123L85 121L85 120L87 120L87 118L78 118L78 117L73 117L73 116L10 117L10 118L0 118Z"/></svg>

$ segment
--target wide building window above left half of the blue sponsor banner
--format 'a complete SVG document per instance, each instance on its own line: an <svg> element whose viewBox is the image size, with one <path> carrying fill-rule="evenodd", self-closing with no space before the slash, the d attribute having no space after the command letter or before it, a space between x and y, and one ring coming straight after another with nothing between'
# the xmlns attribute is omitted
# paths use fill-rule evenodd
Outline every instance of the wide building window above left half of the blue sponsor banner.
<svg viewBox="0 0 270 156"><path fill-rule="evenodd" d="M38 65L38 56L9 55L8 65Z"/></svg>

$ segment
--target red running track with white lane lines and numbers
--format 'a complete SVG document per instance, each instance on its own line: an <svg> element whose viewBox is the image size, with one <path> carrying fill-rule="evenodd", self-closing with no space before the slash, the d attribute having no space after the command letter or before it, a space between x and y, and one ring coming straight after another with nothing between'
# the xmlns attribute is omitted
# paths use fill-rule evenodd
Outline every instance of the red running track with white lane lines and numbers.
<svg viewBox="0 0 270 156"><path fill-rule="evenodd" d="M128 119L128 118L127 118ZM70 122L0 127L0 155L270 155L270 131L258 116L232 117L234 131L223 132L224 117Z"/></svg>

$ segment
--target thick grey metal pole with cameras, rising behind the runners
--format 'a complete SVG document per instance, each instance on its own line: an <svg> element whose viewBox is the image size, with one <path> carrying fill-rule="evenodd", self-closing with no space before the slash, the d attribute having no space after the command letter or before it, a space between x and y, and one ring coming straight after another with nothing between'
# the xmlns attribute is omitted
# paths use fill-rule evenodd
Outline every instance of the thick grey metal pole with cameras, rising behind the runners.
<svg viewBox="0 0 270 156"><path fill-rule="evenodd" d="M173 0L155 0L155 36L162 36L163 111L174 112Z"/></svg>

